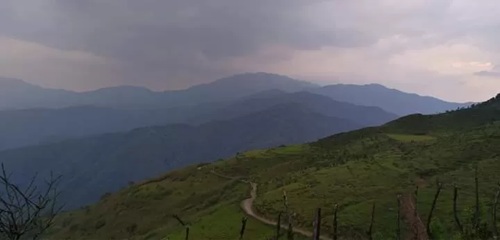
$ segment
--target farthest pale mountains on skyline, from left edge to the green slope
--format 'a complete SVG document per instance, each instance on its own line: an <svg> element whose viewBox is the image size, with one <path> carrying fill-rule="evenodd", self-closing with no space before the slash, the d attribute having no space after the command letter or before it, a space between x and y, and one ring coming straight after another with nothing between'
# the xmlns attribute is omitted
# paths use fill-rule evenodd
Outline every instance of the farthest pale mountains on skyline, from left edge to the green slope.
<svg viewBox="0 0 500 240"><path fill-rule="evenodd" d="M68 108L94 105L118 109L174 108L218 101L233 101L270 89L283 92L308 91L337 101L377 106L400 116L412 113L434 114L469 103L450 103L437 98L408 94L382 85L328 85L295 80L277 74L238 74L213 83L183 90L153 92L144 87L119 86L90 92L46 89L13 78L0 78L0 110L26 108Z"/></svg>

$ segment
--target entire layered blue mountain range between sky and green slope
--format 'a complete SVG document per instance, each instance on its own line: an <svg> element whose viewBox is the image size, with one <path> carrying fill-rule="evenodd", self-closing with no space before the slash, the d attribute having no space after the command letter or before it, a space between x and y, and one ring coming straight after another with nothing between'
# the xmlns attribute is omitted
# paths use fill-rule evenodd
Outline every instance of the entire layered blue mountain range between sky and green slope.
<svg viewBox="0 0 500 240"><path fill-rule="evenodd" d="M430 110L422 107L429 101L442 111L460 105L379 85L351 86L342 95L332 89L343 85L264 73L169 92L124 86L76 93L13 79L0 85L0 108L10 109L0 111L1 162L20 175L62 174L68 207L188 164L397 119L394 105L369 102L369 89L383 89L374 98L393 94L419 106L408 112Z"/></svg>

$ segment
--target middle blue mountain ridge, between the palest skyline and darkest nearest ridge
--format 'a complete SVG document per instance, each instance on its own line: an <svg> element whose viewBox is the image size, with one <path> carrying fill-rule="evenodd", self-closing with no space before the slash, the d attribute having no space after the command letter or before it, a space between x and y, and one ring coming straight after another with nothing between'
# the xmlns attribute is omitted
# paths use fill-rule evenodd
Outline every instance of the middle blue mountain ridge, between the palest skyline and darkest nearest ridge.
<svg viewBox="0 0 500 240"><path fill-rule="evenodd" d="M0 150L106 132L121 132L144 126L170 123L199 125L242 117L288 103L299 103L325 116L348 119L360 126L376 126L397 118L396 115L380 108L340 103L309 92L270 93L254 94L238 101L154 110L81 106L0 111ZM366 114L370 117L366 118Z"/></svg>

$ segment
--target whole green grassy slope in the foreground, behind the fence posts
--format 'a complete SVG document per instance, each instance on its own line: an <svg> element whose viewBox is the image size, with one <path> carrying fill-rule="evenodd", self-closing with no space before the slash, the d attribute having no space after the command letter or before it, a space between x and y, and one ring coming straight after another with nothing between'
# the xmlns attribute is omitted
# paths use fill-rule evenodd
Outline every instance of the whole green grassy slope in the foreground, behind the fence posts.
<svg viewBox="0 0 500 240"><path fill-rule="evenodd" d="M459 211L469 228L474 206L474 169L480 182L481 219L490 220L492 196L500 180L500 95L466 110L433 116L411 115L378 128L334 135L312 144L251 151L225 161L190 166L156 180L123 189L99 203L60 216L52 237L123 239L137 224L138 239L171 236L182 228L171 217L192 223L192 239L238 239L240 201L249 186L211 173L258 183L256 212L274 219L283 210L286 191L297 225L311 229L314 210L322 207L322 229L331 233L333 209L340 205L341 239L363 239L376 203L375 239L396 232L397 195L410 198L419 186L417 209L425 223L439 178L432 230L436 239L456 235L451 214L453 184L459 189ZM403 202L402 216L408 216ZM101 224L96 225L96 222ZM106 224L102 224L106 221ZM403 236L410 237L408 219ZM487 223L490 224L490 223ZM249 222L246 239L267 239L272 228Z"/></svg>

